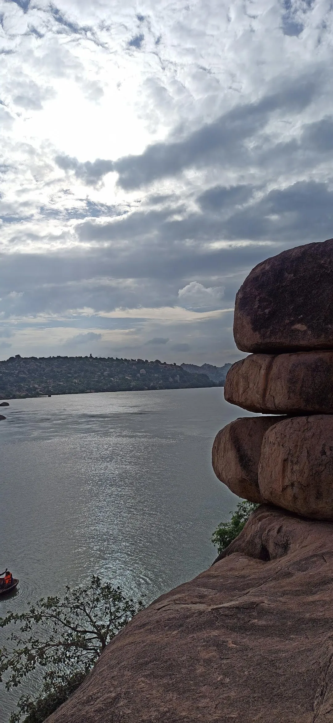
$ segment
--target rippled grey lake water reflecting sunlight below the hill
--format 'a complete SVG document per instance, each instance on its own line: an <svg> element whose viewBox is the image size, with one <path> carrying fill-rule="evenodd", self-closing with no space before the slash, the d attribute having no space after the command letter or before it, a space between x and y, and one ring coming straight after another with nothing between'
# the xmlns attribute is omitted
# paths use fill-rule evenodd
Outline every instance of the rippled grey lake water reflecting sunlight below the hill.
<svg viewBox="0 0 333 723"><path fill-rule="evenodd" d="M239 498L210 454L247 412L222 388L12 400L0 422L0 568L25 609L98 573L151 602L216 557L210 536ZM13 709L0 688L0 722Z"/></svg>

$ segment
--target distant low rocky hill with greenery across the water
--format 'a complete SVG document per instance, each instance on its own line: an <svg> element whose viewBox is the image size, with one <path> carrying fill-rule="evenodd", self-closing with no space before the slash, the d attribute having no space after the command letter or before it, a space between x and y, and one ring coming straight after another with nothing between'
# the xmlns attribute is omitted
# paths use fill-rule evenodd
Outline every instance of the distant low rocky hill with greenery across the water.
<svg viewBox="0 0 333 723"><path fill-rule="evenodd" d="M213 367L214 368L214 367ZM213 387L207 374L147 359L11 356L0 361L0 399L52 394Z"/></svg>

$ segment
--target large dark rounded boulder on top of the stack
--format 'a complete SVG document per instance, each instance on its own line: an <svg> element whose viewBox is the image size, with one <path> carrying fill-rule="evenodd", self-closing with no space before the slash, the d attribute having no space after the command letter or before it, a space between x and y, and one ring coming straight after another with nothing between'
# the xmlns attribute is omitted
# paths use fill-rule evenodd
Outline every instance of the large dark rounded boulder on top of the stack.
<svg viewBox="0 0 333 723"><path fill-rule="evenodd" d="M236 295L241 351L333 348L333 239L262 261Z"/></svg>

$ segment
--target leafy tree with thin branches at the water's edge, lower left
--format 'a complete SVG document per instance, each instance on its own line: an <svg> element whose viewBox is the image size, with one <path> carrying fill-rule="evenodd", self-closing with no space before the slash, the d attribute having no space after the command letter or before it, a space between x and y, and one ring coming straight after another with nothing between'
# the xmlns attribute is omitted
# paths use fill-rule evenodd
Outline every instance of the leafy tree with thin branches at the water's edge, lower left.
<svg viewBox="0 0 333 723"><path fill-rule="evenodd" d="M17 688L36 669L43 672L40 696L21 696L9 723L23 715L27 723L40 723L50 715L142 607L141 600L128 599L119 587L93 576L86 586L66 586L63 599L41 598L27 612L0 618L1 628L9 626L7 646L0 649L0 682L6 690Z"/></svg>

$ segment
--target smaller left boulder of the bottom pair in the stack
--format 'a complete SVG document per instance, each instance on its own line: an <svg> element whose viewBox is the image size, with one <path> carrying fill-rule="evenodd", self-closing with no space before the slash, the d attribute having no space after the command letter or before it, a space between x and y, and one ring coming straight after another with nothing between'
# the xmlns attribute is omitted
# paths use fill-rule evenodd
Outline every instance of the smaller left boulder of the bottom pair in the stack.
<svg viewBox="0 0 333 723"><path fill-rule="evenodd" d="M250 502L264 501L258 484L262 438L280 419L280 416L241 417L216 435L212 450L213 470L235 495Z"/></svg>

